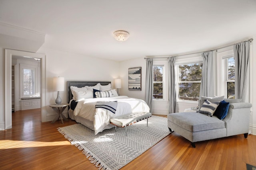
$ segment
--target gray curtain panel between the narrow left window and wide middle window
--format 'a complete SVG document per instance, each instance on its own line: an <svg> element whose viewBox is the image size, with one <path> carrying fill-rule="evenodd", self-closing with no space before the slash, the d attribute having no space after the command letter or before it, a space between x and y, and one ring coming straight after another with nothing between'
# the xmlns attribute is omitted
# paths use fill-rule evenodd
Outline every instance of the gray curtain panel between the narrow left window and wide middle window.
<svg viewBox="0 0 256 170"><path fill-rule="evenodd" d="M168 58L168 99L169 113L176 112L176 90L175 90L175 57Z"/></svg>

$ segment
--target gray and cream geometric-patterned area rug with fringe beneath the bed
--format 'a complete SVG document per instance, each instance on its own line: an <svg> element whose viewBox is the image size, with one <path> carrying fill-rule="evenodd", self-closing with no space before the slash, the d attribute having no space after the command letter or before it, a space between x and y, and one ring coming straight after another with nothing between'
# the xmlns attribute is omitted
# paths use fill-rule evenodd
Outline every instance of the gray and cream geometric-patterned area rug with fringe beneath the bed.
<svg viewBox="0 0 256 170"><path fill-rule="evenodd" d="M100 170L118 170L166 137L167 118L154 116L125 128L106 129L97 135L81 124L58 128L72 145Z"/></svg>

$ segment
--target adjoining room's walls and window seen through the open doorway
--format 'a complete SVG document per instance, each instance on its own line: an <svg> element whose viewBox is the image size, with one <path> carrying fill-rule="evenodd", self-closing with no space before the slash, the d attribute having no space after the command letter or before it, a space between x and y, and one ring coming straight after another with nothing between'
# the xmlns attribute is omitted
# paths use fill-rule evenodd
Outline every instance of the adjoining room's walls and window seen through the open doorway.
<svg viewBox="0 0 256 170"><path fill-rule="evenodd" d="M41 108L41 59L12 56L12 112Z"/></svg>

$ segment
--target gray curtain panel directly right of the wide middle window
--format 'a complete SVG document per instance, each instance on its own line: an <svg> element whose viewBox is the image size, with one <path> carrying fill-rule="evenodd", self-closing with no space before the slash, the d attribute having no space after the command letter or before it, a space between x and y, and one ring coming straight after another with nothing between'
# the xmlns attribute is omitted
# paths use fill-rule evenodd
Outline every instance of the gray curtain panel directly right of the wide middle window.
<svg viewBox="0 0 256 170"><path fill-rule="evenodd" d="M203 68L199 98L214 97L213 51L202 53L201 56Z"/></svg>

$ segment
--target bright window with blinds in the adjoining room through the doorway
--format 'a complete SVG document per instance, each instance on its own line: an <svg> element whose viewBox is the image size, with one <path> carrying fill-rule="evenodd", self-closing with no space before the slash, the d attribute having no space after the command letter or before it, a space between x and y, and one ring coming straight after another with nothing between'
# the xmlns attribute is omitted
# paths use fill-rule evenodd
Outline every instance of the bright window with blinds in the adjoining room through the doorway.
<svg viewBox="0 0 256 170"><path fill-rule="evenodd" d="M23 95L35 94L35 70L22 69L23 74Z"/></svg>

